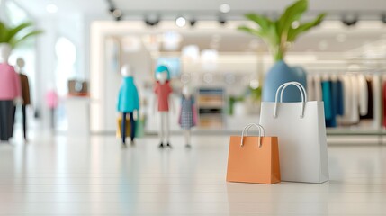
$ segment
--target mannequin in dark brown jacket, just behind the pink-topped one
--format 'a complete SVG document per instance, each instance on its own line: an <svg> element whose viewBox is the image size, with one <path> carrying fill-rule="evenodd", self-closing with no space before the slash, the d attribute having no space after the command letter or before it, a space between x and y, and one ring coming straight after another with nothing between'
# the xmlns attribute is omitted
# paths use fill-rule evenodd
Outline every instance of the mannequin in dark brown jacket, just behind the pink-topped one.
<svg viewBox="0 0 386 216"><path fill-rule="evenodd" d="M27 141L27 115L25 108L27 105L31 104L30 84L28 82L28 76L22 73L22 68L25 66L24 60L22 58L17 58L16 65L19 70L20 82L22 85L22 131L24 133L24 140Z"/></svg>

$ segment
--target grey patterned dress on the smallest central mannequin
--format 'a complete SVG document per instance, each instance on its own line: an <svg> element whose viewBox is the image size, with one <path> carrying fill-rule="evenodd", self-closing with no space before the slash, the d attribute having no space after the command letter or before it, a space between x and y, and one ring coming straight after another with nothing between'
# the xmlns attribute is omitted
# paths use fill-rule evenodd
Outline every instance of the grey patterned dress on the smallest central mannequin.
<svg viewBox="0 0 386 216"><path fill-rule="evenodd" d="M185 96L181 99L181 112L178 120L180 126L184 130L190 130L197 124L197 112L194 107L194 98Z"/></svg>

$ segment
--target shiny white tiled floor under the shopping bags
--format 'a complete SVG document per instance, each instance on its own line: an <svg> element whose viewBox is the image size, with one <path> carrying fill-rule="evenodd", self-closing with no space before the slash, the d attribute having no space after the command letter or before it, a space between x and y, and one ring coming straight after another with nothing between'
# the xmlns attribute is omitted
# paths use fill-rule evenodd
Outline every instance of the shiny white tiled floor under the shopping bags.
<svg viewBox="0 0 386 216"><path fill-rule="evenodd" d="M329 146L331 181L225 182L227 136L0 144L0 215L385 215L386 146Z"/></svg>

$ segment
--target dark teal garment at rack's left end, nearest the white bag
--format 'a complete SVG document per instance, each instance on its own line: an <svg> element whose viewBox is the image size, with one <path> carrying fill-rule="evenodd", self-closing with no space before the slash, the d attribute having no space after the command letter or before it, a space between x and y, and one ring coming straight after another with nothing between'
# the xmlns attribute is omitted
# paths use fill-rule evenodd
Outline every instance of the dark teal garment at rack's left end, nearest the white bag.
<svg viewBox="0 0 386 216"><path fill-rule="evenodd" d="M322 97L324 102L326 127L337 127L335 98L331 81L322 81Z"/></svg>

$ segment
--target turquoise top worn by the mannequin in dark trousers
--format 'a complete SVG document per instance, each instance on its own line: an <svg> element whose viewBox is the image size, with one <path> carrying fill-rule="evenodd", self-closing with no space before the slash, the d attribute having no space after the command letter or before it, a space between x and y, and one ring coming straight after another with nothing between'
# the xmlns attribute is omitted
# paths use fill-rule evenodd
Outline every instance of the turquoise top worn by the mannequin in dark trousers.
<svg viewBox="0 0 386 216"><path fill-rule="evenodd" d="M117 111L129 113L135 110L139 110L139 95L134 78L124 77L118 96Z"/></svg>

